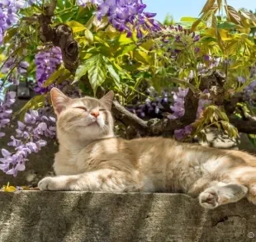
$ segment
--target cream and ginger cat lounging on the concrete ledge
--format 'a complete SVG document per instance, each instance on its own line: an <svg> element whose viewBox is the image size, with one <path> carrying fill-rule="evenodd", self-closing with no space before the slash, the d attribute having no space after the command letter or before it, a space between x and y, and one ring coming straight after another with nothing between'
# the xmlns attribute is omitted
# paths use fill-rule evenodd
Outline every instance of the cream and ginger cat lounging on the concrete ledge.
<svg viewBox="0 0 256 242"><path fill-rule="evenodd" d="M59 151L56 176L41 179L40 190L187 193L208 209L241 198L256 204L256 157L164 137L115 137L113 91L100 100L57 88L50 95Z"/></svg>

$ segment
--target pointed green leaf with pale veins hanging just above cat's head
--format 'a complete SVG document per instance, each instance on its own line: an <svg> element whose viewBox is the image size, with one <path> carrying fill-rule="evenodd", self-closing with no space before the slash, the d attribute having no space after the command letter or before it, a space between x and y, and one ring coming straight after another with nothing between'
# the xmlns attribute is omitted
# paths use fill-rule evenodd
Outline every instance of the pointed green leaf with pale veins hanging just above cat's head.
<svg viewBox="0 0 256 242"><path fill-rule="evenodd" d="M104 64L102 54L97 54L90 58L91 64L88 69L88 79L92 86L94 95L96 95L97 87L101 86L102 83L106 80L107 70L106 65Z"/></svg>

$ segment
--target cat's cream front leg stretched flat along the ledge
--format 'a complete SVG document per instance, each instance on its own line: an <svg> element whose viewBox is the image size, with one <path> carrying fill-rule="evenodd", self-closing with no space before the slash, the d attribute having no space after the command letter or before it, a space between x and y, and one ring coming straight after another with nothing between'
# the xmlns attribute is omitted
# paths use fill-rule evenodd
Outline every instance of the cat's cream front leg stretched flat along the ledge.
<svg viewBox="0 0 256 242"><path fill-rule="evenodd" d="M137 192L140 183L133 175L117 170L95 170L81 175L59 175L41 179L40 190Z"/></svg>

